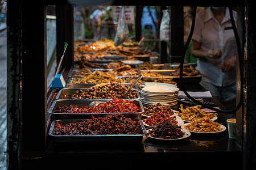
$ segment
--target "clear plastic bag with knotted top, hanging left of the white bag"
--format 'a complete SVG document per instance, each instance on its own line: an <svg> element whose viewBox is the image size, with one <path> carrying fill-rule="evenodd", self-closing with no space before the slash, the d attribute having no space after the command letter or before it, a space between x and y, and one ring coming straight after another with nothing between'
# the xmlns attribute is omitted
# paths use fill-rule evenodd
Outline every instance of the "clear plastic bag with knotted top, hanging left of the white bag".
<svg viewBox="0 0 256 170"><path fill-rule="evenodd" d="M125 20L125 7L122 7L121 15L118 19L117 33L115 33L114 45L118 46L125 42L129 37L129 29Z"/></svg>

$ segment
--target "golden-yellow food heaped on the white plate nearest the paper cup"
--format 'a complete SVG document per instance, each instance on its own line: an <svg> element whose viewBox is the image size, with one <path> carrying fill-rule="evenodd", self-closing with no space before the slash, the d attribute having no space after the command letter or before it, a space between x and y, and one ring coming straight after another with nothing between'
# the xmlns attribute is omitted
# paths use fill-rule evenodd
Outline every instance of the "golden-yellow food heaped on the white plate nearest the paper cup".
<svg viewBox="0 0 256 170"><path fill-rule="evenodd" d="M198 118L193 120L188 125L185 125L185 129L196 132L216 132L221 131L221 125L217 122L210 120L209 116Z"/></svg>

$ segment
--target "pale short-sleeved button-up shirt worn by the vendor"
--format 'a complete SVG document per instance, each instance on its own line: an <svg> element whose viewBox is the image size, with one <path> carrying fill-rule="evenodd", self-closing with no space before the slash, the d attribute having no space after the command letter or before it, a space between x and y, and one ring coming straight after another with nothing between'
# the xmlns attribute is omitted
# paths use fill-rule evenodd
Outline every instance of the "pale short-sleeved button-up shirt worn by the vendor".
<svg viewBox="0 0 256 170"><path fill-rule="evenodd" d="M236 22L236 12L233 11ZM208 7L203 12L196 15L195 29L192 40L201 42L201 49L205 52L215 51L217 48L222 50L222 56L218 59L197 59L197 67L203 80L215 86L228 86L236 82L236 66L227 73L222 73L223 63L236 55L236 39L229 16L229 9L226 8L222 23L214 18L213 12Z"/></svg>

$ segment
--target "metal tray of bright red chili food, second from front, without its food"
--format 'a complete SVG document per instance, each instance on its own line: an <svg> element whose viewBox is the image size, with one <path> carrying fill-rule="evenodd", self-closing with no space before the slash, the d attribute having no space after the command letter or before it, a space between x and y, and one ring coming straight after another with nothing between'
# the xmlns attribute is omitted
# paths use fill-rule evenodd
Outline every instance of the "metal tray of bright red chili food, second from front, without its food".
<svg viewBox="0 0 256 170"><path fill-rule="evenodd" d="M77 107L89 107L89 104L92 103L94 100L79 100L79 99L73 99L73 100L55 100L53 101L51 108L49 108L49 113L52 114L53 119L79 119L79 118L92 118L92 115L94 117L102 116L104 114L108 113L56 113L56 109L58 107L63 107L64 105L77 105ZM98 100L98 101L106 101L106 100ZM142 102L140 100L135 100L133 103L138 107L141 108L141 112L137 113L129 113L129 112L120 112L125 117L130 118L138 118L141 120L141 114L144 112L144 108L142 105ZM115 114L115 113L110 113Z"/></svg>

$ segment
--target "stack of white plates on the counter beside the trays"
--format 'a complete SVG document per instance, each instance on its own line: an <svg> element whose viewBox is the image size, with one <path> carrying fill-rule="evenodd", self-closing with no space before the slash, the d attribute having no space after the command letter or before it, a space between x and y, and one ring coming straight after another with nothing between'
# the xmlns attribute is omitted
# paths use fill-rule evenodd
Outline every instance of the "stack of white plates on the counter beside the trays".
<svg viewBox="0 0 256 170"><path fill-rule="evenodd" d="M142 104L145 107L160 103L164 106L174 107L177 105L179 88L171 86L148 86L141 90Z"/></svg>

